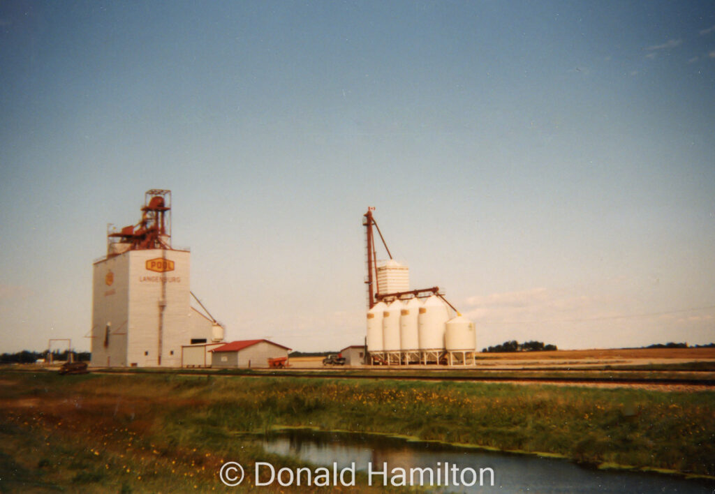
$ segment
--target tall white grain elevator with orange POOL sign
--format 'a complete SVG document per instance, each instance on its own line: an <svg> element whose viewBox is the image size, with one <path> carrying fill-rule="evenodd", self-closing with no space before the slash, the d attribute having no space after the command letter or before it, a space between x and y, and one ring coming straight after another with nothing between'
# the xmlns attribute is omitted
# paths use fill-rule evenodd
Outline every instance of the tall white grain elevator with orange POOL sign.
<svg viewBox="0 0 715 494"><path fill-rule="evenodd" d="M180 367L182 345L223 341L223 327L191 305L191 253L174 249L171 191L148 190L138 224L109 229L94 262L92 365Z"/></svg>

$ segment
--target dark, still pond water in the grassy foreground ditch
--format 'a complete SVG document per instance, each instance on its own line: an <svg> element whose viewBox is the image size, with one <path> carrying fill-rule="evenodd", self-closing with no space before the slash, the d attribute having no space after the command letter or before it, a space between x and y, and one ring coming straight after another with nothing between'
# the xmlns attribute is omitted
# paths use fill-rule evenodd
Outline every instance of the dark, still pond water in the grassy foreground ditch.
<svg viewBox="0 0 715 494"><path fill-rule="evenodd" d="M400 485L403 478L410 485L410 472L415 473L413 480L417 484L420 476L428 479L431 474L433 488L428 491L438 493L710 494L715 488L715 483L709 480L597 470L561 458L494 453L382 435L280 430L265 436L260 443L269 453L292 456L314 465L335 463L342 469L355 463L355 470L372 472L373 485L383 485L385 480L387 485L393 480ZM405 476L401 477L403 473ZM470 483L473 485L468 486ZM425 484L430 485L428 481Z"/></svg>

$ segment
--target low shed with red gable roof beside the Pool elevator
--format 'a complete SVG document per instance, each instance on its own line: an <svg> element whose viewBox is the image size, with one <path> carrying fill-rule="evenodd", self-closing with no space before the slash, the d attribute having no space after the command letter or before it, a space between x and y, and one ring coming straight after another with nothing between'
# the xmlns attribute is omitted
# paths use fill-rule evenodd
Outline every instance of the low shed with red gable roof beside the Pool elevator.
<svg viewBox="0 0 715 494"><path fill-rule="evenodd" d="M269 367L268 359L287 359L290 348L268 340L241 340L211 350L211 367Z"/></svg>

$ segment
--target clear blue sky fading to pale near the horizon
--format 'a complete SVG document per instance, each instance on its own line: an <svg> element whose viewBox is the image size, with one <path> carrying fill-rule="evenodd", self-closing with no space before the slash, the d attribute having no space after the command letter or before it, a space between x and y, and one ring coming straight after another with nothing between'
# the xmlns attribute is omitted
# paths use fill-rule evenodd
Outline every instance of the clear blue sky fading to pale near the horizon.
<svg viewBox="0 0 715 494"><path fill-rule="evenodd" d="M0 351L172 189L227 337L365 335L368 206L478 345L715 340L709 2L0 4Z"/></svg>

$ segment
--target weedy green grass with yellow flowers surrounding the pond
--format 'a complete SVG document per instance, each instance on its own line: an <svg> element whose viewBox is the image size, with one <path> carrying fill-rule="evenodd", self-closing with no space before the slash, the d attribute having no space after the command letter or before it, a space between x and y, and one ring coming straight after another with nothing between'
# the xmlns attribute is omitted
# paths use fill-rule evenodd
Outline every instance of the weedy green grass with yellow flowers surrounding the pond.
<svg viewBox="0 0 715 494"><path fill-rule="evenodd" d="M282 425L715 475L714 416L709 391L0 372L0 486L222 490L225 460L292 465L236 435Z"/></svg>

